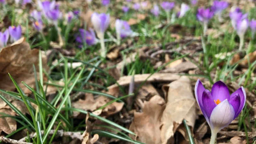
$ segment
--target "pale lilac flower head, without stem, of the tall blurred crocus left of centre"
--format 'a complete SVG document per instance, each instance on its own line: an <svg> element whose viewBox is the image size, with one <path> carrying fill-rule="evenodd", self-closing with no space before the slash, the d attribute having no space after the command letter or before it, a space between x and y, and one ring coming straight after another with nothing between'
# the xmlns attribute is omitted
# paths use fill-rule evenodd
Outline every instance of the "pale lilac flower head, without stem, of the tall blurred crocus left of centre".
<svg viewBox="0 0 256 144"><path fill-rule="evenodd" d="M93 13L92 14L92 25L97 33L97 36L100 38L104 36L105 30L108 28L110 17L109 14L105 13Z"/></svg>

